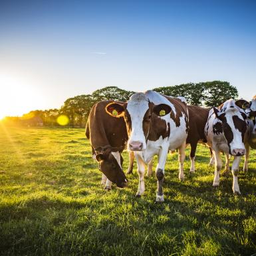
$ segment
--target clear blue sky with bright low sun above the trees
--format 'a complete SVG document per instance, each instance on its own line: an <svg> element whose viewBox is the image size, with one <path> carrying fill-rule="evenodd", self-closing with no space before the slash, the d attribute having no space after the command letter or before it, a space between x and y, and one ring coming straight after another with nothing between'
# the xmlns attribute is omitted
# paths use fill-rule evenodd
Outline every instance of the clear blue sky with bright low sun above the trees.
<svg viewBox="0 0 256 256"><path fill-rule="evenodd" d="M0 1L0 118L105 86L256 94L256 1Z"/></svg>

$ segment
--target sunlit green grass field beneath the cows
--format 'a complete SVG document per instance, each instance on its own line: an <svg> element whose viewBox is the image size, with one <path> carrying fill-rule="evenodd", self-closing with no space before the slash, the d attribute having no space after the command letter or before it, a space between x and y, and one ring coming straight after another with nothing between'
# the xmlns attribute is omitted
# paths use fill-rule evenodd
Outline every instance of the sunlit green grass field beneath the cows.
<svg viewBox="0 0 256 256"><path fill-rule="evenodd" d="M156 204L154 175L141 198L136 172L128 188L102 189L84 129L1 127L0 145L1 255L256 255L255 150L240 196L231 173L212 188L207 148L193 175L187 150L184 182L168 156L166 201Z"/></svg>

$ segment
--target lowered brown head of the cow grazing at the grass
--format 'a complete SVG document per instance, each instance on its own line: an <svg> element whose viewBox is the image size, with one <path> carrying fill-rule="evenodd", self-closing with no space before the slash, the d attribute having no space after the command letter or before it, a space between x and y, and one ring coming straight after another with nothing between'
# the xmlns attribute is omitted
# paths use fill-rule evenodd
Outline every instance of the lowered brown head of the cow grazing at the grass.
<svg viewBox="0 0 256 256"><path fill-rule="evenodd" d="M106 150L104 153L96 154L100 171L106 175L108 180L114 182L118 188L127 186L128 181L122 170L122 156L119 152Z"/></svg>

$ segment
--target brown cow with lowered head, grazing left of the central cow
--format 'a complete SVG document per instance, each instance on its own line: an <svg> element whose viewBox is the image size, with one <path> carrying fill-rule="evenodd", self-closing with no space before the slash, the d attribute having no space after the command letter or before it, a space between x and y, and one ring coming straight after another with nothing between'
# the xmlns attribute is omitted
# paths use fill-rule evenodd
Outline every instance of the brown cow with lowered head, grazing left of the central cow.
<svg viewBox="0 0 256 256"><path fill-rule="evenodd" d="M112 182L119 188L127 186L121 156L128 140L126 124L124 118L114 118L106 114L105 108L112 102L101 101L94 104L86 124L86 137L90 139L92 156L99 162L100 171L103 173L102 184L106 185L106 190L111 189ZM131 156L130 159L129 168L134 158Z"/></svg>

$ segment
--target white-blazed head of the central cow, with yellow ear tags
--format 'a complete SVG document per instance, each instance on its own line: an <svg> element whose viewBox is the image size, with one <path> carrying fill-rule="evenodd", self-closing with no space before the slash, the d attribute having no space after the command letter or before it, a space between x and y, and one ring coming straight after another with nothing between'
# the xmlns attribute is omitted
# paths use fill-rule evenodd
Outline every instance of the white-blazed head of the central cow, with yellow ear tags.
<svg viewBox="0 0 256 256"><path fill-rule="evenodd" d="M116 114L113 114L113 111ZM150 132L151 116L164 116L169 114L172 108L167 104L155 105L149 102L142 92L133 94L130 100L124 104L110 103L106 106L106 112L117 118L124 116L128 132L128 150L142 151L146 149L146 140Z"/></svg>

